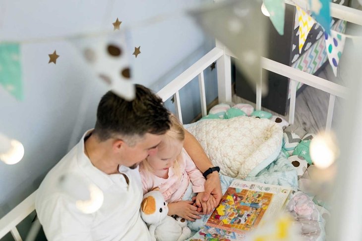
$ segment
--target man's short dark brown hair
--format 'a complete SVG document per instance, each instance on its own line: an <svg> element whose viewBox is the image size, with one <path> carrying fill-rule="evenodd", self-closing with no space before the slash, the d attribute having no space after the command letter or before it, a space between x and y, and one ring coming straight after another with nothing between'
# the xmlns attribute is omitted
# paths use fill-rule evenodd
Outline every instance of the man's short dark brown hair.
<svg viewBox="0 0 362 241"><path fill-rule="evenodd" d="M143 85L135 85L136 94L126 101L112 91L101 99L97 109L94 134L101 141L114 137L139 136L146 133L161 135L170 129L169 112L162 99Z"/></svg>

